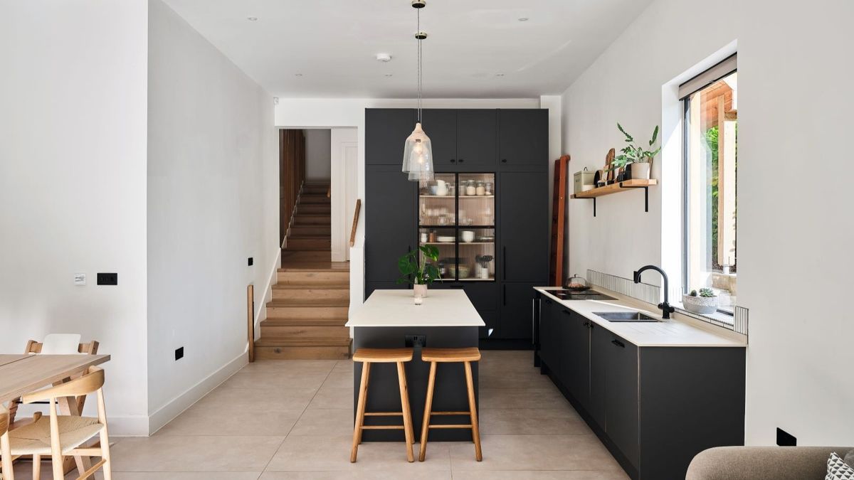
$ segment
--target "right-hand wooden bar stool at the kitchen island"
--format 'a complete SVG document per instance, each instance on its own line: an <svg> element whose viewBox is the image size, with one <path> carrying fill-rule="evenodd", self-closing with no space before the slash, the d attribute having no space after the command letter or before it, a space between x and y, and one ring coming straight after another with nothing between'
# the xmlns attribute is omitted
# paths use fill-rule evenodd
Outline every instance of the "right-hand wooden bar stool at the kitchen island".
<svg viewBox="0 0 854 480"><path fill-rule="evenodd" d="M471 429L471 439L475 442L475 459L483 460L480 448L480 429L477 427L477 405L475 405L475 386L471 379L471 362L480 360L480 350L469 348L424 348L421 360L430 362L430 379L427 381L427 401L424 403L424 424L421 427L421 452L418 461L424 461L427 453L427 434L430 429ZM465 367L465 387L469 393L468 412L433 412L433 388L436 385L436 364L462 362ZM468 415L471 424L430 424L432 415Z"/></svg>

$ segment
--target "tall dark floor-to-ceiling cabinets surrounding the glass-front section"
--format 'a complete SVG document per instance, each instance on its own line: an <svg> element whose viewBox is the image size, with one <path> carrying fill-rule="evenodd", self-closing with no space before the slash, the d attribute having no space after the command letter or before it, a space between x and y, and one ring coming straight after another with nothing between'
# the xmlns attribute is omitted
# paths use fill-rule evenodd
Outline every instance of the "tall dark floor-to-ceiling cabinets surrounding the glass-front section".
<svg viewBox="0 0 854 480"><path fill-rule="evenodd" d="M365 294L396 284L397 259L418 246L418 182L401 172L409 108L367 108ZM543 109L425 109L436 173L494 175L494 277L448 279L465 290L486 327L486 348L527 348L532 287L548 279L548 120ZM457 201L459 202L459 201ZM462 227L460 227L462 228Z"/></svg>

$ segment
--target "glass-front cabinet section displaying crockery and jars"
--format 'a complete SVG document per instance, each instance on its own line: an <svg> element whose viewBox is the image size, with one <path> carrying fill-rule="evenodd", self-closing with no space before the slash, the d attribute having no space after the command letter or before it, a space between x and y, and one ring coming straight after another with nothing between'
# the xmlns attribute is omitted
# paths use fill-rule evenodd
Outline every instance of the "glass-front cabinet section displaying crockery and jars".
<svg viewBox="0 0 854 480"><path fill-rule="evenodd" d="M418 244L439 249L442 281L495 280L495 174L436 173L418 184Z"/></svg>

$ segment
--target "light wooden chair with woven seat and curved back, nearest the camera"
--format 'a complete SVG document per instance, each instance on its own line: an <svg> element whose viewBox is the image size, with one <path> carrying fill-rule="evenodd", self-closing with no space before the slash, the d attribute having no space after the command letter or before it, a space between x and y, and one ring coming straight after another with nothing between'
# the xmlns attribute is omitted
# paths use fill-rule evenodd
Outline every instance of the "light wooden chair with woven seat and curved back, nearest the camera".
<svg viewBox="0 0 854 480"><path fill-rule="evenodd" d="M101 457L101 460L92 465L89 470L80 472L78 479L91 477L103 467L104 480L112 480L103 384L103 370L97 366L91 366L82 377L24 395L24 403L49 401L50 417L42 417L32 424L9 430L6 434L8 442L3 442L4 446L8 445L3 448L3 457L7 458L7 451L9 456L32 455L32 478L35 480L38 480L41 475L42 455L50 455L53 477L57 479L65 477L63 456ZM57 399L91 393L97 394L97 419L56 413ZM97 446L81 447L95 436L99 436L100 440ZM11 469L9 470L9 478L4 480L14 480L14 473Z"/></svg>

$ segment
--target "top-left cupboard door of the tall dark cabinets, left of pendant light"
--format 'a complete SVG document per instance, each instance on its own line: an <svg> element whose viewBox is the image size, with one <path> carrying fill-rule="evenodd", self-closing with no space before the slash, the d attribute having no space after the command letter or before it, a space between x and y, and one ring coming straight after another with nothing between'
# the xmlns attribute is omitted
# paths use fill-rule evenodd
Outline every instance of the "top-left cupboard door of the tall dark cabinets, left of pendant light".
<svg viewBox="0 0 854 480"><path fill-rule="evenodd" d="M366 108L365 164L403 165L403 145L415 128L412 108Z"/></svg>

